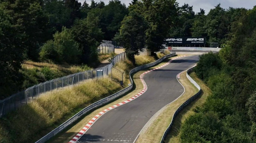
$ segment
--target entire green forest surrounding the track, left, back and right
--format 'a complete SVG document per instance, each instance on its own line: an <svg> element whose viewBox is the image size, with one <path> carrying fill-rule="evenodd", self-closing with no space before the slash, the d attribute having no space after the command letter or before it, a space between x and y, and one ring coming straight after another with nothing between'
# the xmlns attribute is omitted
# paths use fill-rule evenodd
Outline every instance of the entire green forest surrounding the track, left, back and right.
<svg viewBox="0 0 256 143"><path fill-rule="evenodd" d="M97 66L100 42L115 40L134 64L139 51L147 47L154 54L168 37L205 36L208 46L216 42L222 48L200 56L195 68L213 93L182 125L182 142L256 142L256 7L218 4L209 13L195 13L175 0L91 3L0 0L0 100L62 76L48 67L26 69L25 61L86 70Z"/></svg>

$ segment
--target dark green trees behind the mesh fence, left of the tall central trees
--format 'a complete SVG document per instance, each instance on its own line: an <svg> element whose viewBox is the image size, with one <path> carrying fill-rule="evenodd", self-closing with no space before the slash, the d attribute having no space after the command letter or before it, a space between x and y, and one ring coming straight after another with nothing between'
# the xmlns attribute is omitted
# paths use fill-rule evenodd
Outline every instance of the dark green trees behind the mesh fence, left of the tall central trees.
<svg viewBox="0 0 256 143"><path fill-rule="evenodd" d="M0 0L0 99L46 79L42 70L23 69L26 60L96 67L97 47L127 14L119 0Z"/></svg>

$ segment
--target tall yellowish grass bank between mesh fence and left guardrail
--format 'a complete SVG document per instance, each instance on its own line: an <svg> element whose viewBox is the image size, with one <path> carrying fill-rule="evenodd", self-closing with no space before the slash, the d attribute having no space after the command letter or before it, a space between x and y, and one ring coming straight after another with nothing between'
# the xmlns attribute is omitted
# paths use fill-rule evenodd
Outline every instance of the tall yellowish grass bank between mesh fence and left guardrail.
<svg viewBox="0 0 256 143"><path fill-rule="evenodd" d="M35 142L59 126L66 116L74 114L77 108L84 108L119 90L118 83L102 78L46 93L0 119L0 143Z"/></svg>

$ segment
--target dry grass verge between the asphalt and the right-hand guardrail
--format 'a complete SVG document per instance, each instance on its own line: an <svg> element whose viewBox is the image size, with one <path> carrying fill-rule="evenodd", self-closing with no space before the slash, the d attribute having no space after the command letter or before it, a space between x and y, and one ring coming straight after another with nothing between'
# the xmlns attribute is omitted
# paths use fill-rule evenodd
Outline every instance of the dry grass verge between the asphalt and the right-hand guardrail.
<svg viewBox="0 0 256 143"><path fill-rule="evenodd" d="M187 79L186 73L181 74L180 82L185 87L185 93L176 101L167 106L167 108L157 117L149 126L143 135L140 135L136 143L159 143L164 131L168 128L172 115L176 109L187 99L197 93L198 89ZM176 143L176 142L175 142Z"/></svg>

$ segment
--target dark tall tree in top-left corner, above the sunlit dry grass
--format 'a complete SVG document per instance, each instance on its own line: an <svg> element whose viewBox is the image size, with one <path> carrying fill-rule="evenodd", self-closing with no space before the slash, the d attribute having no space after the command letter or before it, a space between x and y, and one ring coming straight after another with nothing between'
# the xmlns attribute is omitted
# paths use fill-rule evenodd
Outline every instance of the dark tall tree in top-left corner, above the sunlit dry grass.
<svg viewBox="0 0 256 143"><path fill-rule="evenodd" d="M22 46L28 59L36 60L39 47L52 37L48 16L42 10L40 0L7 0L0 7L12 17L16 32L22 34Z"/></svg>

